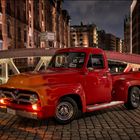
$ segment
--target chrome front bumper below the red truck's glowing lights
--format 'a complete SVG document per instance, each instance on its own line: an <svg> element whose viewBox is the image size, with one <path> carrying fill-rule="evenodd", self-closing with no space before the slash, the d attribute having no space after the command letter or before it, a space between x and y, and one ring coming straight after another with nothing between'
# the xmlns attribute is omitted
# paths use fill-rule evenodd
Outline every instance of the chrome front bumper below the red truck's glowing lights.
<svg viewBox="0 0 140 140"><path fill-rule="evenodd" d="M14 109L5 108L5 107L0 108L0 111L11 114L11 115L17 115L17 116L21 116L21 117L25 117L25 118L37 119L37 113L34 113L34 112L27 112L24 110L14 110Z"/></svg>

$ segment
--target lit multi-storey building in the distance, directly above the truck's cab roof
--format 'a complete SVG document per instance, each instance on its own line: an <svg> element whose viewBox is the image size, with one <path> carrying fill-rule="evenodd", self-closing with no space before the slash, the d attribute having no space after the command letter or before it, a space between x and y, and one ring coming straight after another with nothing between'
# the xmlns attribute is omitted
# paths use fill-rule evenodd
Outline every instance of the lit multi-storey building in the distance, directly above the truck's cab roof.
<svg viewBox="0 0 140 140"><path fill-rule="evenodd" d="M74 25L70 29L71 47L97 47L98 35L95 24Z"/></svg>

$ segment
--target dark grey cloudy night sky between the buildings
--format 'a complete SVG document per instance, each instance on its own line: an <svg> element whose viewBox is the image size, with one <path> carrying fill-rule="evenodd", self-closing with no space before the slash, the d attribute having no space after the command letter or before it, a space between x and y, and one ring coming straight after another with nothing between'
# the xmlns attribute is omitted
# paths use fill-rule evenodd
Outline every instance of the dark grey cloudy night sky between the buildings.
<svg viewBox="0 0 140 140"><path fill-rule="evenodd" d="M63 9L71 16L71 25L94 23L99 29L123 38L123 22L131 0L64 0Z"/></svg>

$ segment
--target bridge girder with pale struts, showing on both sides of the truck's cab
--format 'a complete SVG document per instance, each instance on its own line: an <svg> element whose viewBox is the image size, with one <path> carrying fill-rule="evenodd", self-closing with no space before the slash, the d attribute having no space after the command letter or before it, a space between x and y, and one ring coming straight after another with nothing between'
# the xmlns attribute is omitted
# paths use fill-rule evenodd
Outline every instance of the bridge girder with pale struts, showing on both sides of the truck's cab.
<svg viewBox="0 0 140 140"><path fill-rule="evenodd" d="M5 83L9 78L9 69L12 70L13 74L19 74L20 70L16 66L14 60L21 58L39 58L38 63L34 67L34 71L39 71L40 68L50 61L51 56L57 49L45 49L45 48L30 48L30 49L14 49L14 50L2 50L0 51L0 67L1 76L0 83ZM122 54L118 52L105 51L107 59L111 61L123 62L128 64L127 69L140 68L140 55L133 54ZM127 71L127 70L126 70Z"/></svg>

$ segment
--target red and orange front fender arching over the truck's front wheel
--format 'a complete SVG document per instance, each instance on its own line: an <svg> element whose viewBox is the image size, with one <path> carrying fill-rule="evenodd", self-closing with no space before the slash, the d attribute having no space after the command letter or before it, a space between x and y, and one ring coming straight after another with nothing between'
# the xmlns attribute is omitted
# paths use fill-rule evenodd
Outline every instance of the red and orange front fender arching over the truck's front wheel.
<svg viewBox="0 0 140 140"><path fill-rule="evenodd" d="M63 96L78 95L82 102L83 112L86 111L85 93L80 83L47 85L38 89L42 106L56 107L59 99Z"/></svg>

